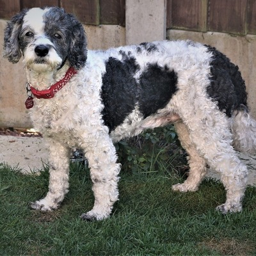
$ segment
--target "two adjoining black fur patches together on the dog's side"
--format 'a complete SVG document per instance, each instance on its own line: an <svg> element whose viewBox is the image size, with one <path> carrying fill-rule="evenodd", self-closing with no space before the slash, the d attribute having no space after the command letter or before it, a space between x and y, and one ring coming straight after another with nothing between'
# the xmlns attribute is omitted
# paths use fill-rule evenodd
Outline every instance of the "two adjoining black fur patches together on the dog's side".
<svg viewBox="0 0 256 256"><path fill-rule="evenodd" d="M109 132L122 124L134 110L136 103L144 118L164 108L177 91L177 74L168 67L148 64L139 81L134 74L139 70L131 52L122 54L122 61L109 58L102 77L102 117Z"/></svg>

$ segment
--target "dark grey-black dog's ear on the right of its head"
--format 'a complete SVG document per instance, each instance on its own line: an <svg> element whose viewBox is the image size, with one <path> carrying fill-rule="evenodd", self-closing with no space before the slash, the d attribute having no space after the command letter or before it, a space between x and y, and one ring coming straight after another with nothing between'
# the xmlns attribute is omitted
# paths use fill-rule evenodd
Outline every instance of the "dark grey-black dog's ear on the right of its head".
<svg viewBox="0 0 256 256"><path fill-rule="evenodd" d="M68 61L77 70L84 67L87 58L86 35L82 24L70 14L72 39L68 50Z"/></svg>

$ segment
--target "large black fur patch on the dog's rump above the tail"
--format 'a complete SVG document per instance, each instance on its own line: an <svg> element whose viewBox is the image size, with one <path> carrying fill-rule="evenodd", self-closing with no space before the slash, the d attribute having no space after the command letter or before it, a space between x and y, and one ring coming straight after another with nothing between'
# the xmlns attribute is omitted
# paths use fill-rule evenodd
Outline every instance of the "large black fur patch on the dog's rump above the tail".
<svg viewBox="0 0 256 256"><path fill-rule="evenodd" d="M228 117L234 110L247 109L247 93L239 68L214 47L205 46L213 54L208 95L218 102L218 108Z"/></svg>

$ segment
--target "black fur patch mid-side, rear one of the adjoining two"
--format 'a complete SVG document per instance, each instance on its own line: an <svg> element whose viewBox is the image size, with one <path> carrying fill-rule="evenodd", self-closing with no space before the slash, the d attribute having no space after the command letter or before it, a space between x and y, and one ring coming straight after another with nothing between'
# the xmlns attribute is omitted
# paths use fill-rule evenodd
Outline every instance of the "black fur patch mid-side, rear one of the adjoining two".
<svg viewBox="0 0 256 256"><path fill-rule="evenodd" d="M139 90L139 106L144 118L162 109L177 92L177 74L168 67L148 64L147 70L141 74Z"/></svg>

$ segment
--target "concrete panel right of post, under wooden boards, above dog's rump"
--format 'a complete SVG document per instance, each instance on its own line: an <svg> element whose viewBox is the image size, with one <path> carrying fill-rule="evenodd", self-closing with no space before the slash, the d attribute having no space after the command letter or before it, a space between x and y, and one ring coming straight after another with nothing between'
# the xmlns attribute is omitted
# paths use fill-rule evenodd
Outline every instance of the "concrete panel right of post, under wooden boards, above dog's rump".
<svg viewBox="0 0 256 256"><path fill-rule="evenodd" d="M256 118L256 35L234 36L218 32L192 32L170 29L166 36L170 40L193 40L216 47L239 67L248 92L248 106Z"/></svg>

